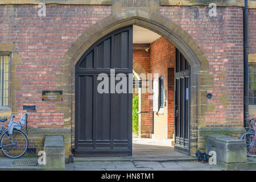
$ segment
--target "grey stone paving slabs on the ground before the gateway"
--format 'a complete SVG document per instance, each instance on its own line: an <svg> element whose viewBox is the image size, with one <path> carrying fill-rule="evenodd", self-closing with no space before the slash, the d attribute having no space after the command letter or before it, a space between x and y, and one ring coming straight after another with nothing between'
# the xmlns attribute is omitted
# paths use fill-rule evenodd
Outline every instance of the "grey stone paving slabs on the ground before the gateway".
<svg viewBox="0 0 256 182"><path fill-rule="evenodd" d="M67 164L72 171L218 171L220 167L201 162L75 162Z"/></svg>

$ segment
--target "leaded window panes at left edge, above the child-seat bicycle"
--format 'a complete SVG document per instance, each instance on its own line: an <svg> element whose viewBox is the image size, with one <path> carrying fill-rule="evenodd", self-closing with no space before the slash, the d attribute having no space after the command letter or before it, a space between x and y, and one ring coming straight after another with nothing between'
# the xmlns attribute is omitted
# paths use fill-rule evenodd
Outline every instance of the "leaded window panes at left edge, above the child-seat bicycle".
<svg viewBox="0 0 256 182"><path fill-rule="evenodd" d="M0 106L8 106L9 56L0 55Z"/></svg>

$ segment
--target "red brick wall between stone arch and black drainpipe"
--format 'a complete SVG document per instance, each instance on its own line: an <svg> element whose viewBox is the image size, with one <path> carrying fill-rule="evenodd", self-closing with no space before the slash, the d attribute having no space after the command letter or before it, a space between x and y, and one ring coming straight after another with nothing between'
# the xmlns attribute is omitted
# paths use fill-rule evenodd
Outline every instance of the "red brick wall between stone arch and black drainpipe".
<svg viewBox="0 0 256 182"><path fill-rule="evenodd" d="M205 113L205 125L243 126L243 13L241 7L217 7L209 17L208 7L162 6L166 16L199 44L214 76L214 109Z"/></svg>

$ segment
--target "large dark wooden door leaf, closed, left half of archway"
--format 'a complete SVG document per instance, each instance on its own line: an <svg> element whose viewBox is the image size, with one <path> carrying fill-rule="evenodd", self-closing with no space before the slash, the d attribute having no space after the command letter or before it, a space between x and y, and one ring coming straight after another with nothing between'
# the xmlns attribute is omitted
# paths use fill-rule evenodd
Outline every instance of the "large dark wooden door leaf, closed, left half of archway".
<svg viewBox="0 0 256 182"><path fill-rule="evenodd" d="M127 93L111 92L110 68L115 69L115 75L124 73ZM109 93L97 90L100 73L109 78ZM133 73L132 26L98 40L76 64L75 156L131 155L133 94L128 92L129 73Z"/></svg>

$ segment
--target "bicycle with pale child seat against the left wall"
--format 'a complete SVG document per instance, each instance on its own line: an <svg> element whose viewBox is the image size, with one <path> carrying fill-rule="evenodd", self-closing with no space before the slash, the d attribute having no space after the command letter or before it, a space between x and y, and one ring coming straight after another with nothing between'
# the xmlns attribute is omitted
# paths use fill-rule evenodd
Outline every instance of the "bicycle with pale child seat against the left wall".
<svg viewBox="0 0 256 182"><path fill-rule="evenodd" d="M27 114L24 114L20 121L14 121L14 115L11 116L11 121L7 127L9 129L5 129L3 127L3 122L7 121L7 119L0 119L1 128L0 128L0 150L3 152L5 156L11 159L18 159L23 156L27 152L28 148L28 139L27 134L22 131L22 127L26 125L27 131Z"/></svg>

